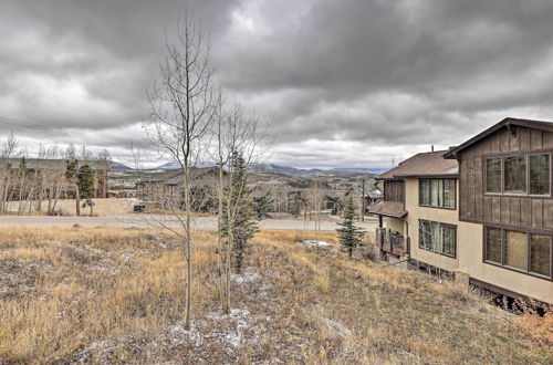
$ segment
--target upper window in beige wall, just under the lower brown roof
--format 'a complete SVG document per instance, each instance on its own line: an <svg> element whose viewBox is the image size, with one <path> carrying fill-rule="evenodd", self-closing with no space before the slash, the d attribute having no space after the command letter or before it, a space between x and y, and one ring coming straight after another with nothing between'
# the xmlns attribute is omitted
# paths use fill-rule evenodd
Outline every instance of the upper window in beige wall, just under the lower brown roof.
<svg viewBox="0 0 553 365"><path fill-rule="evenodd" d="M420 179L419 205L422 207L455 209L455 179Z"/></svg>

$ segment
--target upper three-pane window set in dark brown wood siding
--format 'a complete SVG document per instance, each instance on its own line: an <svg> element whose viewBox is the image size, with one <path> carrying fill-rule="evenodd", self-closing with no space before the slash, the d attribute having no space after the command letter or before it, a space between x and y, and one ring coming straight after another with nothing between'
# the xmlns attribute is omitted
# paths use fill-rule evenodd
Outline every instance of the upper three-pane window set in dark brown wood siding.
<svg viewBox="0 0 553 365"><path fill-rule="evenodd" d="M551 155L521 155L486 159L486 192L551 194Z"/></svg>

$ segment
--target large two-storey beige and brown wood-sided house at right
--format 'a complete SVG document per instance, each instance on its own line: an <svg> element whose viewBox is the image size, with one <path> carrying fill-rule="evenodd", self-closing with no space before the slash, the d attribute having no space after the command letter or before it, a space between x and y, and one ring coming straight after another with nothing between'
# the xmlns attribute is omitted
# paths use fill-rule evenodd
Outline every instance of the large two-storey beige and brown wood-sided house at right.
<svg viewBox="0 0 553 365"><path fill-rule="evenodd" d="M378 178L376 242L511 298L553 303L553 123L505 118Z"/></svg>

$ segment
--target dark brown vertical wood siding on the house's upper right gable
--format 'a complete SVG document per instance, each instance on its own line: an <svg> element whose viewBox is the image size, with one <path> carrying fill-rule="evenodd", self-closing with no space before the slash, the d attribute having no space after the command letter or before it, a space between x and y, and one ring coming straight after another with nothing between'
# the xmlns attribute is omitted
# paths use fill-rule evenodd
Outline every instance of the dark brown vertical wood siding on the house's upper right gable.
<svg viewBox="0 0 553 365"><path fill-rule="evenodd" d="M517 127L517 137L513 137L507 128L502 128L462 152L459 164L459 218L553 232L551 197L484 194L486 156L538 152L553 153L553 133Z"/></svg>

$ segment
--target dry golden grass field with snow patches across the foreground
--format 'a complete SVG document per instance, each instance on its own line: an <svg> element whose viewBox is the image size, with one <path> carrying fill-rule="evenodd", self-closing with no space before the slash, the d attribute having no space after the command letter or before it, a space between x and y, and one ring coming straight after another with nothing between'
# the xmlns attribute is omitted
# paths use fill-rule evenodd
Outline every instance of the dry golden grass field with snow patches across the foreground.
<svg viewBox="0 0 553 365"><path fill-rule="evenodd" d="M258 233L223 316L215 237L195 232L185 331L184 260L170 233L0 229L0 363L553 361L553 316L515 316L452 282L302 243L312 238Z"/></svg>

